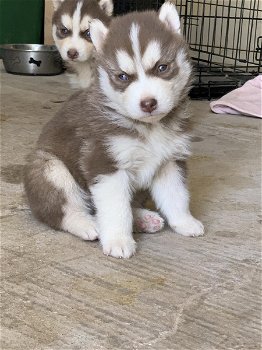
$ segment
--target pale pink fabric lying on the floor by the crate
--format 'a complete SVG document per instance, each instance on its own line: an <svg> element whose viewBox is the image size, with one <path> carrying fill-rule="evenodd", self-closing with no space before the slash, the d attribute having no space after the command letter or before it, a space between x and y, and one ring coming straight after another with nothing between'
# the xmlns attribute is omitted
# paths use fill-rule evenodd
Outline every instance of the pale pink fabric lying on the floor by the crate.
<svg viewBox="0 0 262 350"><path fill-rule="evenodd" d="M244 114L262 118L262 75L211 102L210 108L219 114Z"/></svg>

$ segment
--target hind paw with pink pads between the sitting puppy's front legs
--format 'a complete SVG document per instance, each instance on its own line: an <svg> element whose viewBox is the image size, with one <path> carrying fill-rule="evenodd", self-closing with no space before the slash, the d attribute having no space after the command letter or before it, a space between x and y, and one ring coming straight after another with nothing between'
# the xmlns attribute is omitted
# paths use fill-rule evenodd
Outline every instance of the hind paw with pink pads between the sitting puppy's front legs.
<svg viewBox="0 0 262 350"><path fill-rule="evenodd" d="M155 212L143 208L133 208L134 230L138 232L154 233L162 230L164 219Z"/></svg>

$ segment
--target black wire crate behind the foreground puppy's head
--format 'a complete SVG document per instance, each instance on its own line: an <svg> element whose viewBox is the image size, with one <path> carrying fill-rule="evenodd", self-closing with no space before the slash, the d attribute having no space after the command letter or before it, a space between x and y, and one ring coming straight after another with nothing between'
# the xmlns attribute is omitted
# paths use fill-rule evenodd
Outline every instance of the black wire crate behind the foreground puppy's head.
<svg viewBox="0 0 262 350"><path fill-rule="evenodd" d="M164 1L115 1L116 14ZM176 0L195 68L192 98L216 98L261 72L262 0Z"/></svg>

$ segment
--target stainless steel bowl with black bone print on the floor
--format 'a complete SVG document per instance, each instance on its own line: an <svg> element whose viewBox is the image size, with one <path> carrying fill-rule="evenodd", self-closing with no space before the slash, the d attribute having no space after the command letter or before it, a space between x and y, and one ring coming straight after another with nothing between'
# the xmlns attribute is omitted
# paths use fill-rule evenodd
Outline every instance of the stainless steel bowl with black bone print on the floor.
<svg viewBox="0 0 262 350"><path fill-rule="evenodd" d="M56 75L63 71L61 56L54 45L1 45L6 71L12 74Z"/></svg>

